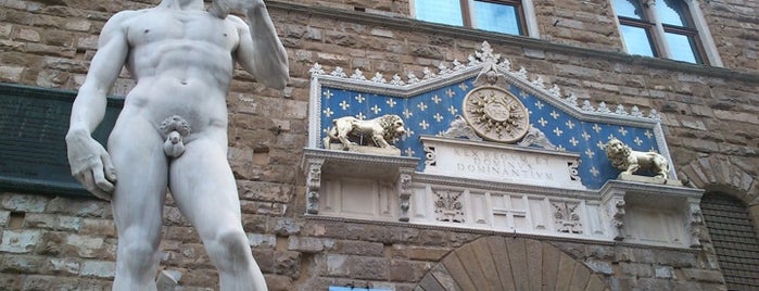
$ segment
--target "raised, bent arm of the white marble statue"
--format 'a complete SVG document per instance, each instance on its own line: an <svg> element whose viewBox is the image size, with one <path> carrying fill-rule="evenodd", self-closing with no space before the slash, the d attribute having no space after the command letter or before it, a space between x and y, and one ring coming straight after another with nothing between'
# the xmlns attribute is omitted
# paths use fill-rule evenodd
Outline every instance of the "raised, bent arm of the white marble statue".
<svg viewBox="0 0 759 291"><path fill-rule="evenodd" d="M256 2L256 1L253 1ZM266 87L283 89L290 80L288 55L277 37L263 1L245 9L248 25L239 21L240 43L236 58L242 67Z"/></svg>

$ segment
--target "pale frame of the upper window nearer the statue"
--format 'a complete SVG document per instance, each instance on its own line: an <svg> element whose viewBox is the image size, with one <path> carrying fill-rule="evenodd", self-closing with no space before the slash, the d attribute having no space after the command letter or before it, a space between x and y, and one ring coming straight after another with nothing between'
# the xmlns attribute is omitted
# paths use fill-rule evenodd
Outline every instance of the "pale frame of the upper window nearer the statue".
<svg viewBox="0 0 759 291"><path fill-rule="evenodd" d="M478 30L483 30L483 31L489 31L489 33L495 33L495 34L513 35L513 34L506 34L506 33L498 33L498 31L494 31L494 30L481 29L481 28L477 28L473 26L473 23L476 22L476 16L473 14L475 10L472 8L473 2L480 1L480 2L486 2L486 3L495 3L495 4L514 7L517 10L517 17L518 17L517 24L519 26L519 34L513 35L513 36L540 38L540 35L537 34L537 22L535 20L534 9L532 7L532 0L457 0L457 1L459 2L459 9L461 12L461 23L463 23L461 27L466 27L466 28L470 28L470 29L478 29ZM416 11L418 10L417 1L412 0L410 3L412 3L412 16L414 18L417 18L417 13L416 13Z"/></svg>

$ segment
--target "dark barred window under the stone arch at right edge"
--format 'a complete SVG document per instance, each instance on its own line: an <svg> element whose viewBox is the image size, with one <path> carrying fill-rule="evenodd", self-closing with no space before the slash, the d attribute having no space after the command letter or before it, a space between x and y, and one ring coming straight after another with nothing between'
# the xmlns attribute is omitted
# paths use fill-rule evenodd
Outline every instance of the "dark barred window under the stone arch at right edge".
<svg viewBox="0 0 759 291"><path fill-rule="evenodd" d="M701 212L729 290L759 290L759 239L745 204L706 193Z"/></svg>

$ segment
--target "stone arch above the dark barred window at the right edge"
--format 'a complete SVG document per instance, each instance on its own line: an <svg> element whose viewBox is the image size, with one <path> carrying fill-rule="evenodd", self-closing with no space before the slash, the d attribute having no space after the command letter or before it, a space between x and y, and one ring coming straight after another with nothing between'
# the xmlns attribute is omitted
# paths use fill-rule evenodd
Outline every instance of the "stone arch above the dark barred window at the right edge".
<svg viewBox="0 0 759 291"><path fill-rule="evenodd" d="M749 206L759 204L759 181L730 157L704 156L682 167L679 174L696 188L730 194Z"/></svg>

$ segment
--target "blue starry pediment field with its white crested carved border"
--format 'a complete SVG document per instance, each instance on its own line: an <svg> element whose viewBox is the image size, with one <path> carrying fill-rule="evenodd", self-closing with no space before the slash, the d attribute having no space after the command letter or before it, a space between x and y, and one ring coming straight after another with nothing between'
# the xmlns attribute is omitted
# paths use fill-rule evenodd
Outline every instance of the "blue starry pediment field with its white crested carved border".
<svg viewBox="0 0 759 291"><path fill-rule="evenodd" d="M425 172L427 153L421 137L441 136L457 116L460 118L465 97L483 86L482 76L488 71L497 73L499 79L484 85L508 92L523 105L529 125L551 143L551 147L542 147L544 150L573 153L579 157L577 175L584 188L600 189L619 174L604 151L610 138L621 140L633 150L659 152L669 160L660 116L655 110L644 113L635 106L625 109L579 100L556 85L544 84L541 76L530 77L523 67L514 69L507 59L493 53L488 42L483 42L466 63L441 62L435 69L407 73L405 77L401 74L385 77L381 73L367 77L359 69L344 72L341 67L328 73L315 64L311 71L308 148L324 148L321 140L334 118L370 119L395 114L404 119L406 134L394 146L402 155L420 159L417 172ZM518 142L509 144L541 148ZM674 177L674 173L671 176Z"/></svg>

